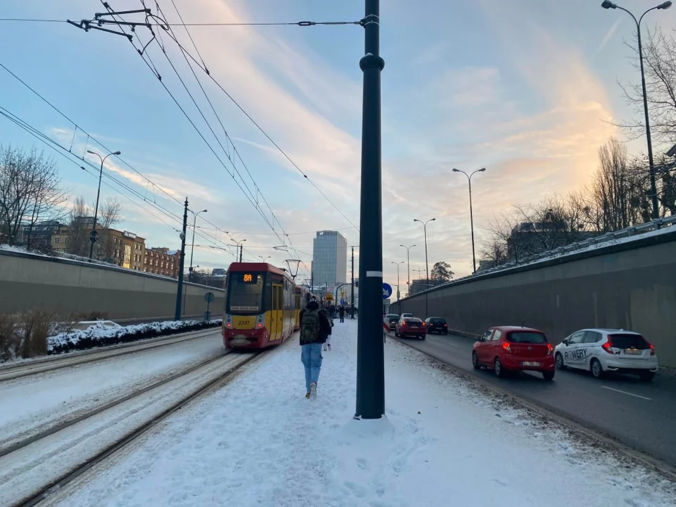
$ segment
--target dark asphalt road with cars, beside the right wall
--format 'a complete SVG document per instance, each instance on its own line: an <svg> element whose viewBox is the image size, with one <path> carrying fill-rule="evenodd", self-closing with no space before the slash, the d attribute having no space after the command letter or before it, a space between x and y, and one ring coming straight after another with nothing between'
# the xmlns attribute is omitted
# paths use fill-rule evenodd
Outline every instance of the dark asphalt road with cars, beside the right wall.
<svg viewBox="0 0 676 507"><path fill-rule="evenodd" d="M676 380L670 377L657 375L650 383L632 375L596 380L582 370L557 369L553 382L530 372L499 379L492 370L472 368L473 339L427 334L425 341L401 342L676 466Z"/></svg>

